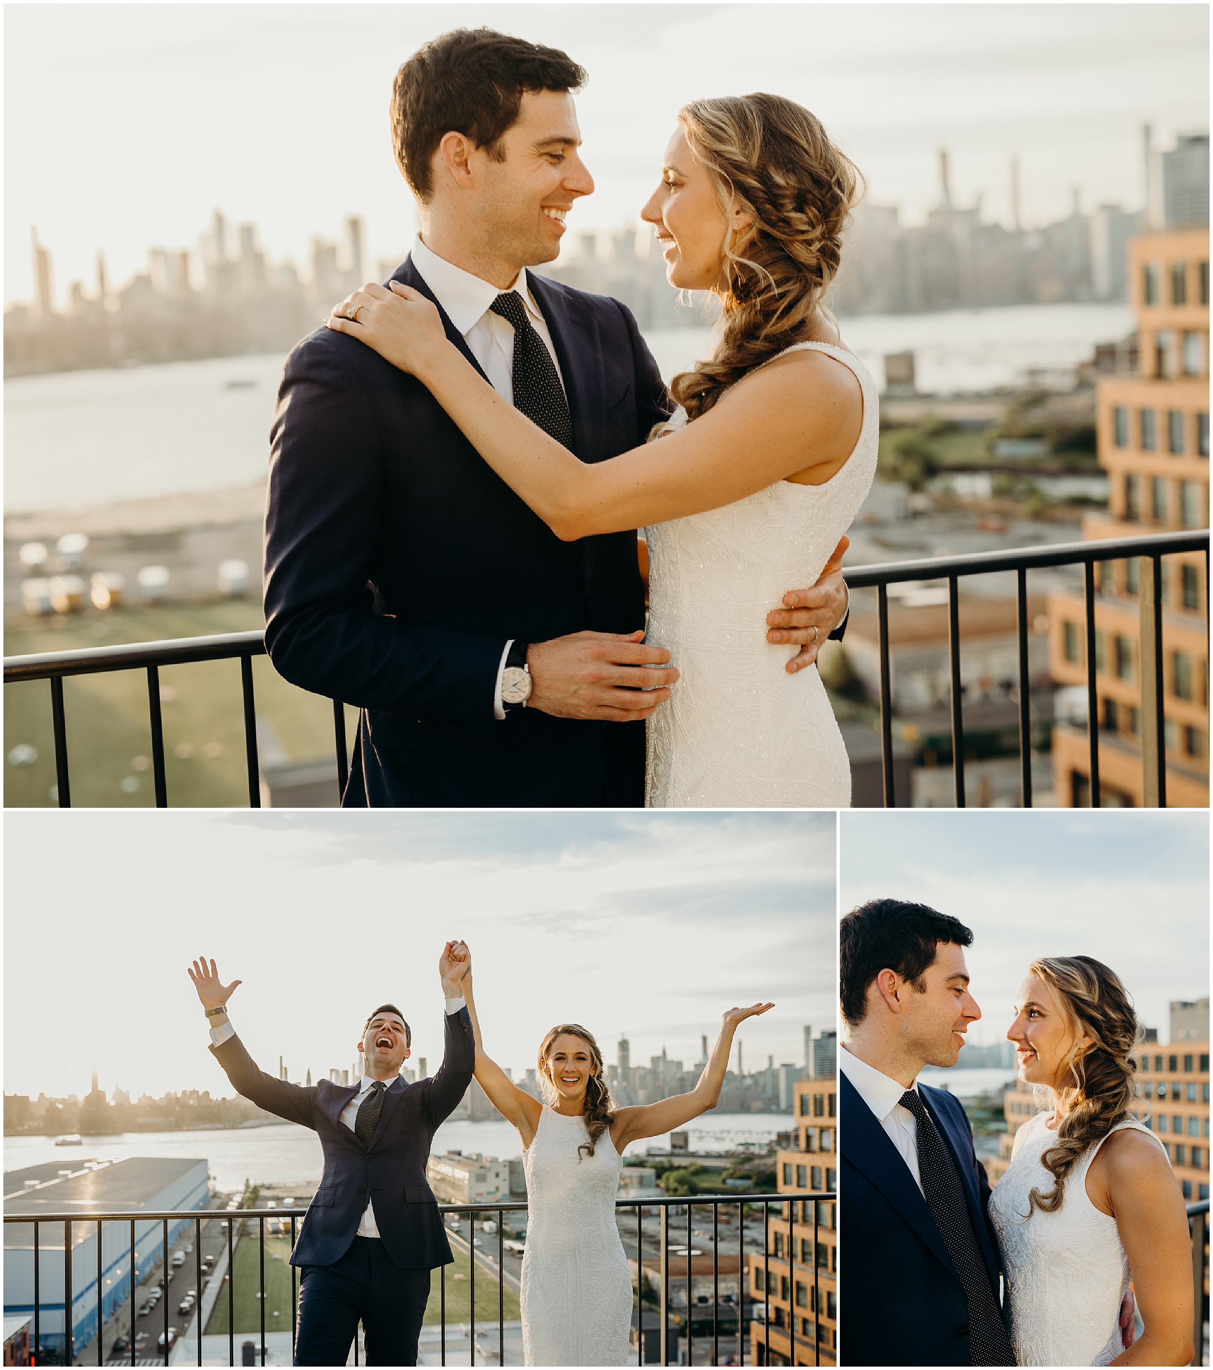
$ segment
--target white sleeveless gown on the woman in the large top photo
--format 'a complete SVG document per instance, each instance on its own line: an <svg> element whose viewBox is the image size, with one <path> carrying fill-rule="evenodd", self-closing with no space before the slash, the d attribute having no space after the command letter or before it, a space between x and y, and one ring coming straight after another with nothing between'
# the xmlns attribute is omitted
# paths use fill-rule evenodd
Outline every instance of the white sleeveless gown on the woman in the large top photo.
<svg viewBox="0 0 1213 1370"><path fill-rule="evenodd" d="M784 670L800 648L767 641L767 614L790 589L817 580L872 485L878 390L843 348L800 342L786 351L805 349L850 367L864 392L863 429L842 470L824 485L779 481L724 508L645 529L645 640L667 647L682 671L648 722L648 808L850 804L850 762L817 669Z"/></svg>

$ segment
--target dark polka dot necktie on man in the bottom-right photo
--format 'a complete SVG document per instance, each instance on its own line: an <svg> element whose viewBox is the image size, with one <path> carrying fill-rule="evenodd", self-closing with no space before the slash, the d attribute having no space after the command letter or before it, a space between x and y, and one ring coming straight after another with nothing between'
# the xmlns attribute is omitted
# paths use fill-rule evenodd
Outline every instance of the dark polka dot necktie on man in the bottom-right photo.
<svg viewBox="0 0 1213 1370"><path fill-rule="evenodd" d="M969 1310L969 1365L1013 1366L1014 1352L986 1278L986 1263L978 1249L952 1152L916 1089L906 1089L899 1101L915 1115L923 1193L964 1288Z"/></svg>

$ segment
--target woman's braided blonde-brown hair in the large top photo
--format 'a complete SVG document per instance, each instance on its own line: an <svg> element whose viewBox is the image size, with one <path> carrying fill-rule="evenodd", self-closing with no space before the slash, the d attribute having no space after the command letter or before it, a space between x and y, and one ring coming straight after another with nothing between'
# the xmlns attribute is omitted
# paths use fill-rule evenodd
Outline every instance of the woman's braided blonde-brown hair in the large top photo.
<svg viewBox="0 0 1213 1370"><path fill-rule="evenodd" d="M732 247L724 244L726 284L716 292L724 326L715 353L669 384L690 421L746 371L804 341L838 273L863 177L816 115L778 95L693 100L678 122L726 214L752 222Z"/></svg>

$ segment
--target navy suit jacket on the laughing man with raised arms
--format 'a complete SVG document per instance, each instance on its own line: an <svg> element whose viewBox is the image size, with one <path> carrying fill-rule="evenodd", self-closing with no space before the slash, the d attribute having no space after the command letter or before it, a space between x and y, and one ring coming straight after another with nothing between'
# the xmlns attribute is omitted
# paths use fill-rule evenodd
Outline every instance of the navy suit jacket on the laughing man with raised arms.
<svg viewBox="0 0 1213 1370"><path fill-rule="evenodd" d="M341 1122L341 1110L359 1085L290 1085L259 1070L240 1037L212 1047L237 1092L255 1104L319 1133L324 1174L304 1217L293 1266L331 1266L357 1236L370 1193L383 1249L403 1270L433 1270L455 1259L426 1180L430 1141L438 1125L467 1093L475 1067L475 1041L467 1008L448 1014L446 1051L430 1080L407 1085L397 1075L383 1095L379 1125L364 1147Z"/></svg>

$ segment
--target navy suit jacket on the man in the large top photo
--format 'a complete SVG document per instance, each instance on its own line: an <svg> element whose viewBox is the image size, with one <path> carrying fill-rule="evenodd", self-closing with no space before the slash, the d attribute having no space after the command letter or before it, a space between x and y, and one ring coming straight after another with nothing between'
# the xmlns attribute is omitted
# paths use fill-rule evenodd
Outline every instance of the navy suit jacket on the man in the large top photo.
<svg viewBox="0 0 1213 1370"><path fill-rule="evenodd" d="M411 258L393 279L433 299ZM601 462L638 447L669 399L635 319L617 300L528 281L574 451ZM493 717L508 638L643 627L635 533L561 543L420 381L349 334L322 327L286 360L264 586L278 673L361 710L346 804L643 804L642 722Z"/></svg>

